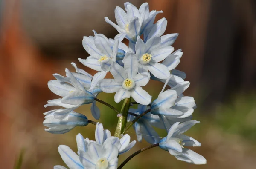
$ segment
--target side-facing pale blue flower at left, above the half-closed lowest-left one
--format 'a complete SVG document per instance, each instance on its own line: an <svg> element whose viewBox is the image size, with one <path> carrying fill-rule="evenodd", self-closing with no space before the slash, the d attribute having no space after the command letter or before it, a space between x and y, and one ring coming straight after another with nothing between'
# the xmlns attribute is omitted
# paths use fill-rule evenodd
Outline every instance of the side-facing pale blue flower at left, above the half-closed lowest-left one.
<svg viewBox="0 0 256 169"><path fill-rule="evenodd" d="M72 64L75 66L75 64ZM81 71L75 66L77 71L82 73L71 73L66 69L66 76L53 74L57 80L50 80L48 82L49 89L56 95L62 96L61 99L49 100L47 106L61 106L66 109L61 109L55 112L55 118L64 119L72 110L78 108L82 104L93 103L95 96L101 92L99 89L90 90L91 77L87 72ZM92 93L93 92L93 93ZM96 116L97 117L97 116Z"/></svg>

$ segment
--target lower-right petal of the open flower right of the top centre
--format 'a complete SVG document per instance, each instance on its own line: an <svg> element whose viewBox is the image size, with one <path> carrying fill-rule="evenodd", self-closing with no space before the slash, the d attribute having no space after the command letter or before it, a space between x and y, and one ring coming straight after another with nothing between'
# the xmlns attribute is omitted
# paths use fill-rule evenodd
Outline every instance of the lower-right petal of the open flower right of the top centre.
<svg viewBox="0 0 256 169"><path fill-rule="evenodd" d="M151 61L146 66L149 72L159 79L167 79L171 75L168 68L161 63Z"/></svg>

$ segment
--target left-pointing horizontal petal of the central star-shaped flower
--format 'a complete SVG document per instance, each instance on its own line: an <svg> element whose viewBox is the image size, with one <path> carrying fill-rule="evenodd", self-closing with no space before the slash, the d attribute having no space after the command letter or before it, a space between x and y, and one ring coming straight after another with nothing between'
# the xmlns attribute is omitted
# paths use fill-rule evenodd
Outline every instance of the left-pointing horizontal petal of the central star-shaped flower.
<svg viewBox="0 0 256 169"><path fill-rule="evenodd" d="M114 93L122 89L122 83L114 79L102 79L99 81L98 86L105 93Z"/></svg>

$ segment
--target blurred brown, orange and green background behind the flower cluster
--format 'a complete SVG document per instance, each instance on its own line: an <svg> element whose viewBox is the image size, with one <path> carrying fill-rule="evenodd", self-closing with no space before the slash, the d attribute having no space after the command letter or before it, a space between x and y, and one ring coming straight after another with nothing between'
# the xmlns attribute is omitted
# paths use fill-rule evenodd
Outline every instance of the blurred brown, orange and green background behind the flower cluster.
<svg viewBox="0 0 256 169"><path fill-rule="evenodd" d="M143 0L131 0L139 7ZM195 97L193 116L200 124L189 135L202 143L192 148L207 165L180 162L159 148L133 158L124 169L255 169L256 166L256 1L255 0L149 0L150 10L163 10L165 34L179 33L175 49L184 54L177 67L186 72ZM76 127L64 135L44 132L47 100L57 98L47 88L53 73L64 74L70 62L83 67L83 36L92 30L114 37L105 23L114 19L124 0L0 0L0 168L12 169L22 154L22 169L49 169L64 165L58 145L76 152L76 135L94 140L95 126ZM154 88L152 87L154 85ZM157 87L156 87L157 86ZM146 90L155 98L163 84L151 82ZM99 98L120 108L112 94ZM114 132L115 113L97 103L106 129ZM90 106L77 112L90 115ZM165 133L161 133L163 136ZM136 139L134 131L129 135ZM137 143L119 163L148 143Z"/></svg>

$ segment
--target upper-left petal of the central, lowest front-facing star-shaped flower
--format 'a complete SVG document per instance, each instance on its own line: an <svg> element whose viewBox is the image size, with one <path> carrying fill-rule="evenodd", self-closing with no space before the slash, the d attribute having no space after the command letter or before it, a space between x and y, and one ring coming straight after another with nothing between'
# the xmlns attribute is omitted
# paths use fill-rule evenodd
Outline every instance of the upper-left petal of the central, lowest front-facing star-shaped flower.
<svg viewBox="0 0 256 169"><path fill-rule="evenodd" d="M125 79L127 79L125 69L116 62L112 63L110 66L110 72L118 82L123 82Z"/></svg>

